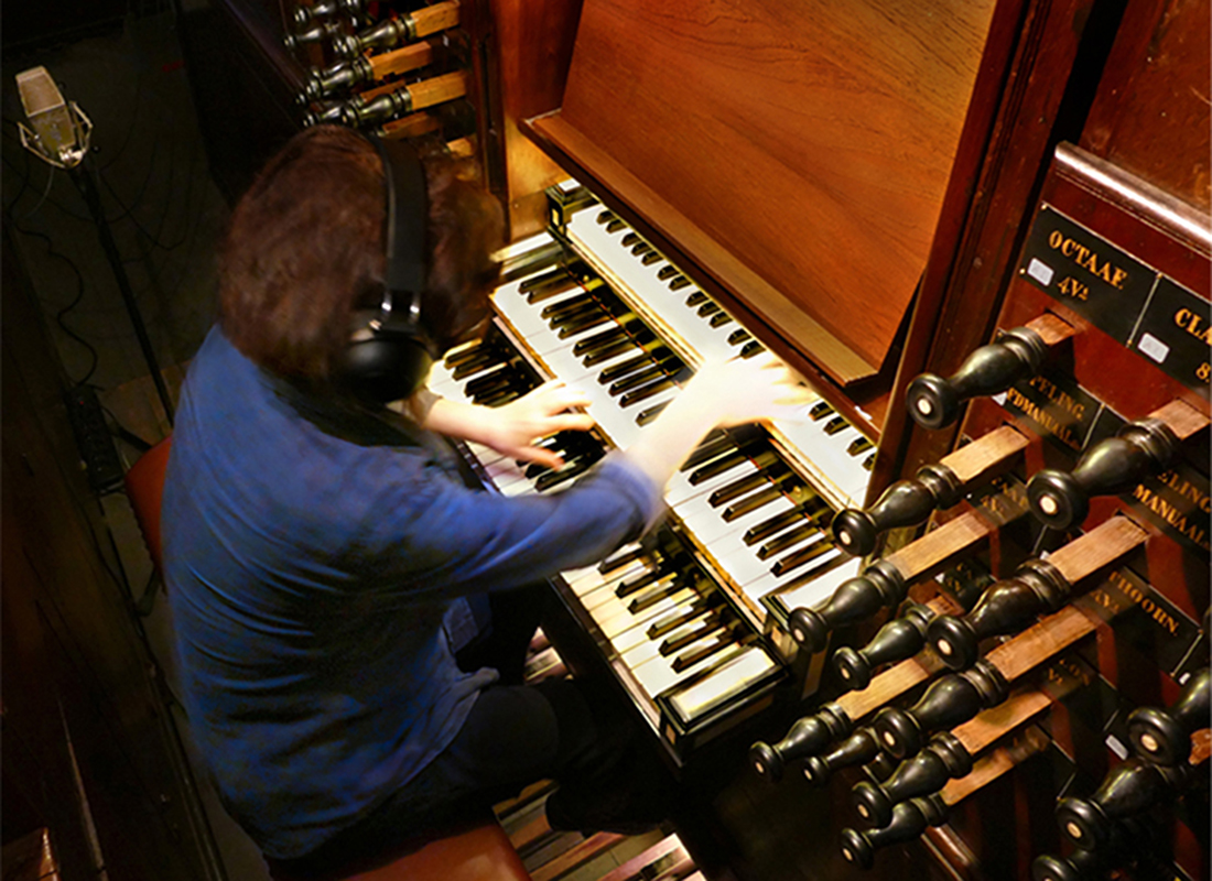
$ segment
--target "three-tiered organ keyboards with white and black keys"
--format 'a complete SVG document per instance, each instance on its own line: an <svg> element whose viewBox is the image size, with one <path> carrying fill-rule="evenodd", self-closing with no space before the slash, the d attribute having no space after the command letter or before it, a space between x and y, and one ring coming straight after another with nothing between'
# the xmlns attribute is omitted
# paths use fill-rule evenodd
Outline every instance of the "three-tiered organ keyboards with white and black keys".
<svg viewBox="0 0 1212 881"><path fill-rule="evenodd" d="M565 458L559 471L467 445L486 482L507 494L559 491L607 446L629 446L705 357L765 356L676 267L645 265L654 251L611 212L587 202L570 227L578 223L600 228L601 242L618 240L613 261L583 245L556 258L545 236L515 245L511 262L541 254L539 268L494 292L493 330L429 379L438 394L486 405L549 378L588 393L598 425L589 436L553 439ZM652 307L657 296L664 309ZM658 536L560 579L566 603L679 760L743 710L768 704L788 677L790 658L768 639L778 627L768 619L785 608L774 597L811 602L857 572L828 525L865 493L862 463L874 445L827 406L818 396L801 422L713 433L670 482Z"/></svg>

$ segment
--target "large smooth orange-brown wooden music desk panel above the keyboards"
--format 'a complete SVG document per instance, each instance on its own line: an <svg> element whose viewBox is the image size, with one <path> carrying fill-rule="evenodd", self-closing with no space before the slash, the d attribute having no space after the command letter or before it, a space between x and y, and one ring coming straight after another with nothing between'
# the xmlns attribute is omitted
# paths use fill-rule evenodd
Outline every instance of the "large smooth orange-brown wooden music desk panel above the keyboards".
<svg viewBox="0 0 1212 881"><path fill-rule="evenodd" d="M589 0L562 118L703 231L705 269L733 285L716 251L733 254L874 372L926 262L991 6Z"/></svg>

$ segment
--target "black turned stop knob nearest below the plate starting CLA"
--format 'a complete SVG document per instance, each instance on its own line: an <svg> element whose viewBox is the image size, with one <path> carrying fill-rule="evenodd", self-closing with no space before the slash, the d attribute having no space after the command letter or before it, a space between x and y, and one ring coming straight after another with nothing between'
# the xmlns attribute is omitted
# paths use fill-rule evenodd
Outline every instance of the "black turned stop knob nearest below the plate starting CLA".
<svg viewBox="0 0 1212 881"><path fill-rule="evenodd" d="M1115 437L1087 450L1073 471L1036 473L1027 484L1031 514L1053 530L1080 526L1092 497L1128 492L1142 479L1162 471L1177 448L1178 439L1160 419L1130 423Z"/></svg>

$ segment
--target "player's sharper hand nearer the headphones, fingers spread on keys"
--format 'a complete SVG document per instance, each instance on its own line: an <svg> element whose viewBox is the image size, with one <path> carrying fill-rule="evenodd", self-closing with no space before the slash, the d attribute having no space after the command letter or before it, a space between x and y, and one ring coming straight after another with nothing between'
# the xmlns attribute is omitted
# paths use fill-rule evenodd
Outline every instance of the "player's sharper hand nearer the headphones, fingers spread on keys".
<svg viewBox="0 0 1212 881"><path fill-rule="evenodd" d="M484 434L479 440L502 456L560 468L564 459L559 453L536 444L558 431L588 431L593 428L593 417L567 412L571 407L588 404L588 395L551 379L516 401L485 411L481 414Z"/></svg>

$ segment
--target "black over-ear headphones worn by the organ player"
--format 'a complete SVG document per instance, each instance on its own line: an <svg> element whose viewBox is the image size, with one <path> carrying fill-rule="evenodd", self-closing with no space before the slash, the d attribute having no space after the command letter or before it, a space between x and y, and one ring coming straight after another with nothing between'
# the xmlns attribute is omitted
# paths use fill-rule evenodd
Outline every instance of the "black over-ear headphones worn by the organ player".
<svg viewBox="0 0 1212 881"><path fill-rule="evenodd" d="M441 353L422 322L429 219L424 166L407 142L367 139L383 160L383 303L368 321L358 313L341 374L359 397L387 404L410 397Z"/></svg>

